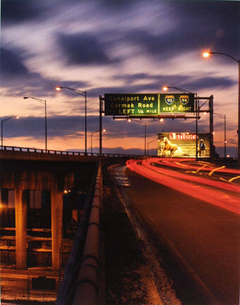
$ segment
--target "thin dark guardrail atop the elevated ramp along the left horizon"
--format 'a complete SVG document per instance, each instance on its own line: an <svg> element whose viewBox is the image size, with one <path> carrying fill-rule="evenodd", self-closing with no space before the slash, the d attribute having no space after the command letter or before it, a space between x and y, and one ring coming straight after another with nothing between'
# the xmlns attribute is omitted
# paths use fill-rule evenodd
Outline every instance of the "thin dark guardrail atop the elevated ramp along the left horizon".
<svg viewBox="0 0 240 305"><path fill-rule="evenodd" d="M144 157L144 155L134 155L134 154L119 154L119 153L100 153L98 152L76 152L68 150L43 150L40 148L22 148L17 146L1 146L1 151L14 151L14 152L35 152L39 154L47 155L73 155L73 156L85 156L85 157ZM149 156L156 157L156 156Z"/></svg>

